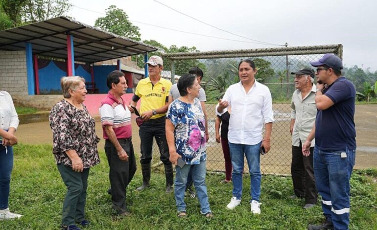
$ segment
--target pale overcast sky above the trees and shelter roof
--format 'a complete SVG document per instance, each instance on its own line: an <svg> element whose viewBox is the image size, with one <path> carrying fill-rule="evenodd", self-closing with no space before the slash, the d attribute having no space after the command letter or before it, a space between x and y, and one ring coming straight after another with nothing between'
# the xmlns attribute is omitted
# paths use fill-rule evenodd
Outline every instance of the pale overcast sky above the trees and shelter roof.
<svg viewBox="0 0 377 230"><path fill-rule="evenodd" d="M343 45L343 63L377 70L377 1L374 0L158 0L182 13L231 33L288 46ZM142 40L165 46L195 46L200 51L279 47L249 43L197 22L154 0L71 0L71 16L94 25L116 5L140 28ZM78 7L85 8L80 9ZM94 13L88 10L100 12ZM176 32L149 23L236 42Z"/></svg>

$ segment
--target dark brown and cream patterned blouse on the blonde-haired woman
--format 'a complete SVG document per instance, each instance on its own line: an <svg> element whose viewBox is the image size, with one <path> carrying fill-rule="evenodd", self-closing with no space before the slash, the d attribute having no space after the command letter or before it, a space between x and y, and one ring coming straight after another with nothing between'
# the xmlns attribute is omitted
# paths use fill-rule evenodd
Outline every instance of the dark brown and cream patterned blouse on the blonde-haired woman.
<svg viewBox="0 0 377 230"><path fill-rule="evenodd" d="M53 133L53 150L56 164L72 166L71 159L65 153L67 150L76 150L84 168L90 168L99 163L95 135L95 121L83 105L79 110L66 100L59 101L49 115L50 127Z"/></svg>

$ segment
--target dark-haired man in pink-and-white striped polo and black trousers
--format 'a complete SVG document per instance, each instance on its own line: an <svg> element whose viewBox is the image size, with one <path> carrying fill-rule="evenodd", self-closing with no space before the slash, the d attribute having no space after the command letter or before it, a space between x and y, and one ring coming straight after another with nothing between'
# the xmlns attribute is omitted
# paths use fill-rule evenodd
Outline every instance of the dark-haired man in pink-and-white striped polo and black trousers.
<svg viewBox="0 0 377 230"><path fill-rule="evenodd" d="M136 172L134 147L131 142L131 113L121 98L127 90L121 71L112 71L106 79L110 91L102 100L99 113L106 140L105 153L110 166L111 200L119 215L127 216L126 187Z"/></svg>

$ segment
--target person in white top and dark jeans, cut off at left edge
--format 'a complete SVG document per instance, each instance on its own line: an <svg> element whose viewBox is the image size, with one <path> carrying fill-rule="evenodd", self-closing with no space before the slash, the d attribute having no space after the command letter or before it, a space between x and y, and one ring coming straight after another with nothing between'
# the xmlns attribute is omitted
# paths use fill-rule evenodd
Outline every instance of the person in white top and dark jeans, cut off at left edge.
<svg viewBox="0 0 377 230"><path fill-rule="evenodd" d="M17 144L14 136L19 124L12 97L8 92L0 91L0 220L22 217L9 211L10 176L13 169L13 145Z"/></svg>

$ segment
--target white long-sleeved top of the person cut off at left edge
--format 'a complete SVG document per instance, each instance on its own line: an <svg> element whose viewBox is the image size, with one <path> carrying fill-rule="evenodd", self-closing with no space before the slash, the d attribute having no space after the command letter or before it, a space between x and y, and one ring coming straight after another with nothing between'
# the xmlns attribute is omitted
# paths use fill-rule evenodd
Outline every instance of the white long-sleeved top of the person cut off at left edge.
<svg viewBox="0 0 377 230"><path fill-rule="evenodd" d="M12 97L8 92L0 91L0 128L3 130L8 130L9 127L17 129L19 122Z"/></svg>

